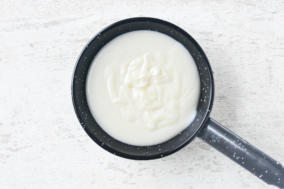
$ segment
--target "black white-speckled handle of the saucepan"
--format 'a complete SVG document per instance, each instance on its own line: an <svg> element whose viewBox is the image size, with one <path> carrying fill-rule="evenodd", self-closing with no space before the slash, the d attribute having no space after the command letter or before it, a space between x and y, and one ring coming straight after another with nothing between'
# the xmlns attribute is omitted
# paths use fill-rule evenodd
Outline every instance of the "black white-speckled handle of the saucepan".
<svg viewBox="0 0 284 189"><path fill-rule="evenodd" d="M284 188L284 168L279 162L215 120L209 118L197 136L267 184Z"/></svg>

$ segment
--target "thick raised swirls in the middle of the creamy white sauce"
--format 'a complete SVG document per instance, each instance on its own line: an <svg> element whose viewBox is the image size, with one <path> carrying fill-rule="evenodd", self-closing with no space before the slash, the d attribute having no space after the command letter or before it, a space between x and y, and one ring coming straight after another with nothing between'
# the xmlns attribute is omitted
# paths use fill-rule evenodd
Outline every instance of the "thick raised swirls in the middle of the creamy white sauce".
<svg viewBox="0 0 284 189"><path fill-rule="evenodd" d="M180 74L160 56L161 52L146 53L125 61L120 68L119 91L114 88L113 65L105 70L112 102L121 104L121 114L144 129L174 124L180 116Z"/></svg>

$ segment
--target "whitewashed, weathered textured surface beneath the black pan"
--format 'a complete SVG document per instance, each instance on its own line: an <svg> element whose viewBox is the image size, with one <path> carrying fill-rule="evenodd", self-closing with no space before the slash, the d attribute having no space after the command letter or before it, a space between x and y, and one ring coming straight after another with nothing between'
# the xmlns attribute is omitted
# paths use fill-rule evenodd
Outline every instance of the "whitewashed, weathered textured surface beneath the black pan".
<svg viewBox="0 0 284 189"><path fill-rule="evenodd" d="M149 16L197 40L214 71L211 117L284 163L284 3L0 1L0 188L276 188L199 139L158 160L96 145L71 100L76 59L101 29Z"/></svg>

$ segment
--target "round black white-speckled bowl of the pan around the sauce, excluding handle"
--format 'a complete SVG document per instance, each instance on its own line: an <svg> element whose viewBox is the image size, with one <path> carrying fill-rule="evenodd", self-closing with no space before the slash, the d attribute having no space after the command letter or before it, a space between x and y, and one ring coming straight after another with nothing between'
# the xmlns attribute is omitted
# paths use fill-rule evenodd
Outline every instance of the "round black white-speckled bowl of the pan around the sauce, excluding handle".
<svg viewBox="0 0 284 189"><path fill-rule="evenodd" d="M173 139L154 146L132 146L110 137L101 129L91 115L85 95L87 71L97 52L118 35L136 30L157 31L176 39L191 53L200 74L201 95L195 120L188 128ZM213 104L213 96L214 84L212 72L208 59L201 47L188 33L178 26L155 18L130 18L116 22L100 31L89 41L80 54L72 78L72 99L74 108L78 120L86 133L108 152L135 160L162 158L178 151L191 142L209 117ZM111 115L109 115L109 118L111 119Z"/></svg>

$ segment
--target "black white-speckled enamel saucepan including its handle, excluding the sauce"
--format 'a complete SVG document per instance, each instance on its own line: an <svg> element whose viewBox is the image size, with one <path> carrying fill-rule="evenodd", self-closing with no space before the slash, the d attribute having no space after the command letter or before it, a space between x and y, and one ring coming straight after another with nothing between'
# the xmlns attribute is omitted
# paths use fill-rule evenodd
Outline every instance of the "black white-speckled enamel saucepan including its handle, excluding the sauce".
<svg viewBox="0 0 284 189"><path fill-rule="evenodd" d="M183 44L195 60L200 76L201 93L194 121L176 137L154 146L128 145L108 135L90 116L86 100L87 71L97 52L118 35L137 30L161 32ZM101 30L83 48L76 62L72 77L72 100L85 132L95 143L116 156L133 160L163 158L199 137L259 179L284 188L284 168L279 162L209 117L214 100L214 79L209 61L199 44L187 32L170 22L147 17L129 18ZM108 116L111 119L112 115Z"/></svg>

